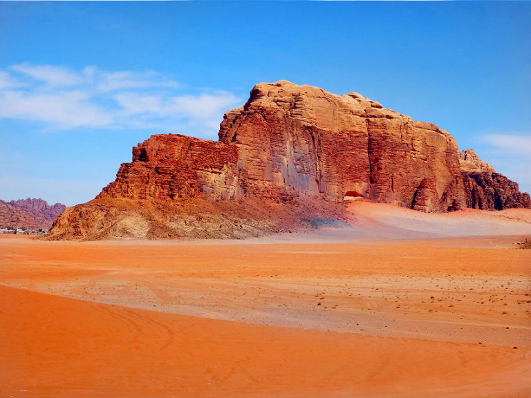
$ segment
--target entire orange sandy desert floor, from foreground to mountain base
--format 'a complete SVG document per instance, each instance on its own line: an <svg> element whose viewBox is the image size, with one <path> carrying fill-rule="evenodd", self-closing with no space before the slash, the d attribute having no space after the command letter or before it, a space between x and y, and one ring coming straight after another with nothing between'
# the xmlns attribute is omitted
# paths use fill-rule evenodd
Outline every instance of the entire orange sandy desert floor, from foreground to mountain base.
<svg viewBox="0 0 531 398"><path fill-rule="evenodd" d="M0 238L1 397L531 397L531 211Z"/></svg>

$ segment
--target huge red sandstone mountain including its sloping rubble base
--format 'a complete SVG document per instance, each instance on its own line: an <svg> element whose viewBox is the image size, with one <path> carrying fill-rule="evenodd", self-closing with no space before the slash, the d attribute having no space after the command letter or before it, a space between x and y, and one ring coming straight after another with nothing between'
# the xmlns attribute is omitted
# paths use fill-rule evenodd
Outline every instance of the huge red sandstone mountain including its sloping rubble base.
<svg viewBox="0 0 531 398"><path fill-rule="evenodd" d="M531 207L527 193L435 124L358 93L257 84L218 142L152 135L50 238L244 238L346 220L344 200L419 211Z"/></svg>

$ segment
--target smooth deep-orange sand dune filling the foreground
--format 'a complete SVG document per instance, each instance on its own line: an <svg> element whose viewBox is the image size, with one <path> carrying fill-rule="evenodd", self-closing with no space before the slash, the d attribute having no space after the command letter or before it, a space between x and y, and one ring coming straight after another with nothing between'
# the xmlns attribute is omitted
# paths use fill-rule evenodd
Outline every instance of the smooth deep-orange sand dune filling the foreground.
<svg viewBox="0 0 531 398"><path fill-rule="evenodd" d="M3 396L481 397L529 391L523 351L215 321L6 287ZM522 395L524 396L524 395Z"/></svg>

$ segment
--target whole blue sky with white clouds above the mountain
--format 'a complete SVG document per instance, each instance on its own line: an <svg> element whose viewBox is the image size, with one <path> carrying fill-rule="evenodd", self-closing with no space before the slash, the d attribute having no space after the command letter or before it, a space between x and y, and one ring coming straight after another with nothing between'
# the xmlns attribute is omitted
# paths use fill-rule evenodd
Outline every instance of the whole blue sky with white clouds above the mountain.
<svg viewBox="0 0 531 398"><path fill-rule="evenodd" d="M0 2L0 199L75 205L258 82L357 91L531 191L530 2Z"/></svg>

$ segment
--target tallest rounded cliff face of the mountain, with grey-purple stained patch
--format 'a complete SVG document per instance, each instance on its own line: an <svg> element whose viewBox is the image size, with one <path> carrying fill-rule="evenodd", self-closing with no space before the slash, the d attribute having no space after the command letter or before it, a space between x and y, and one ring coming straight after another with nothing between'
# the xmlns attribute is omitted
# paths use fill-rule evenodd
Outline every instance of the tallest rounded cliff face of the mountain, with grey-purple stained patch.
<svg viewBox="0 0 531 398"><path fill-rule="evenodd" d="M451 135L357 93L259 84L225 115L219 140L243 147L239 168L250 194L354 196L435 211L460 191Z"/></svg>

